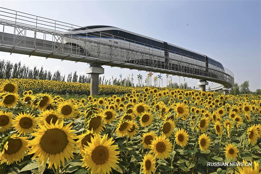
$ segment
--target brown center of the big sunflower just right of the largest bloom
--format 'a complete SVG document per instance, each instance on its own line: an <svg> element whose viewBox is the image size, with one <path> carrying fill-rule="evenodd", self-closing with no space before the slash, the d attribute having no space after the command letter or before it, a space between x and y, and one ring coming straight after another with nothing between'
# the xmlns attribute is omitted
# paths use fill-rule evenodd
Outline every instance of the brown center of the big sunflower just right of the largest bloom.
<svg viewBox="0 0 261 174"><path fill-rule="evenodd" d="M109 151L104 146L97 146L91 153L91 159L96 165L101 165L107 162L109 158Z"/></svg>

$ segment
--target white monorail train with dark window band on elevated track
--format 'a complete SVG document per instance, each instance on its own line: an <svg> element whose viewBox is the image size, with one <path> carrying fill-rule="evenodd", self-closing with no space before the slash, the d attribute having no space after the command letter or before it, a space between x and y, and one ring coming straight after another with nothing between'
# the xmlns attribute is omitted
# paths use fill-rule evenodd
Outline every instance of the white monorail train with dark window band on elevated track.
<svg viewBox="0 0 261 174"><path fill-rule="evenodd" d="M190 68L187 67L187 63L190 63L196 65L193 66L193 69L196 71L199 71L199 69L206 72L210 72L211 69L224 71L224 67L220 62L206 55L113 26L86 26L70 29L66 33L73 37L64 37L64 44L80 46L81 49L85 49L85 52L94 57L109 57L113 52L111 46L105 46L105 44L98 48L97 43L102 41L112 45L113 42L113 45L116 47L128 48L119 49L114 53L118 54L118 58L121 58L121 61L124 62L178 71L180 70L178 68L182 67L182 70L184 71L185 69L185 72L190 71L191 66ZM93 42L86 42L86 37L88 41L91 40ZM132 54L128 50L140 52L140 56ZM152 60L151 55L156 55L156 60Z"/></svg>

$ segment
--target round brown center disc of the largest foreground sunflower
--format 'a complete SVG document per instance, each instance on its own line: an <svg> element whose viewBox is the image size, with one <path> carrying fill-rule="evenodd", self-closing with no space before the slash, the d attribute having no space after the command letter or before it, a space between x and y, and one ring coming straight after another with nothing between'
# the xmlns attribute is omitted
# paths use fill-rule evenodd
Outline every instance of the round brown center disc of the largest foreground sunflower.
<svg viewBox="0 0 261 174"><path fill-rule="evenodd" d="M64 151L68 144L67 135L64 131L54 128L48 129L40 140L40 146L44 152L58 154Z"/></svg>

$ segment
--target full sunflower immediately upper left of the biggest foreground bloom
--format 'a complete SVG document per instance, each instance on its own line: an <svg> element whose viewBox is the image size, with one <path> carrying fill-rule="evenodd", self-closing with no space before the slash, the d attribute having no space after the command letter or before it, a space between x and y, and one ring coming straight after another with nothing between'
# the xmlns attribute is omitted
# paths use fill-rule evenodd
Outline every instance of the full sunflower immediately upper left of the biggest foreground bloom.
<svg viewBox="0 0 261 174"><path fill-rule="evenodd" d="M35 116L26 112L19 113L13 120L13 127L20 134L31 133L33 129L37 128L35 123Z"/></svg>

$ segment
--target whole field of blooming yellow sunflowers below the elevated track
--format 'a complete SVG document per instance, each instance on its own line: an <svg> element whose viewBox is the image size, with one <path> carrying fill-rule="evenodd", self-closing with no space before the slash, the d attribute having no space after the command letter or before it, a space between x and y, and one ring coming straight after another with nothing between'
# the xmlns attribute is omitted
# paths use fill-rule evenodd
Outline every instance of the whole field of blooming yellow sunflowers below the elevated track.
<svg viewBox="0 0 261 174"><path fill-rule="evenodd" d="M0 79L0 173L261 173L261 96L89 88Z"/></svg>

